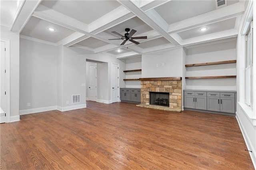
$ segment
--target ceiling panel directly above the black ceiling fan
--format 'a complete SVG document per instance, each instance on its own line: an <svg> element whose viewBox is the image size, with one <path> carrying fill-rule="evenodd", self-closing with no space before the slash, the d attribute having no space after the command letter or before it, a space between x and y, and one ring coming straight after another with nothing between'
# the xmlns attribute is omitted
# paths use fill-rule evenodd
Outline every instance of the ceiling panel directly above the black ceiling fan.
<svg viewBox="0 0 256 170"><path fill-rule="evenodd" d="M132 29L136 30L137 32L133 35L134 37L136 37L139 34L143 34L144 32L153 30L150 26L145 24L138 17L134 17L134 18L131 18L130 20L122 22L121 24L118 24L108 30L105 30L105 32L108 34L111 34L115 37L121 38L120 36L113 34L112 31L115 31L115 32L118 32L119 34L124 35L126 33L125 28L130 28L130 30L132 30ZM147 35L140 35L140 36L147 36ZM113 37L113 38L115 38L115 37Z"/></svg>

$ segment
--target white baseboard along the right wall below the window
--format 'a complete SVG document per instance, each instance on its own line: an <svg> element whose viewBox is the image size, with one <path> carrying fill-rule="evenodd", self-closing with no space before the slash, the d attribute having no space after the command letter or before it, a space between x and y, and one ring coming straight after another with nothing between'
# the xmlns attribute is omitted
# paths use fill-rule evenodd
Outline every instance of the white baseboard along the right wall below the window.
<svg viewBox="0 0 256 170"><path fill-rule="evenodd" d="M243 125L243 123L242 123L238 114L236 114L236 120L237 120L238 125L241 129L242 135L244 136L244 141L246 143L246 146L247 146L248 150L252 151L252 152L249 152L249 154L250 154L250 157L252 159L252 164L254 165L254 168L256 169L256 154L255 154L256 150L254 150L255 145L253 145L252 142L250 141L250 138L249 138L249 136L246 132L246 129L244 128L244 125Z"/></svg>

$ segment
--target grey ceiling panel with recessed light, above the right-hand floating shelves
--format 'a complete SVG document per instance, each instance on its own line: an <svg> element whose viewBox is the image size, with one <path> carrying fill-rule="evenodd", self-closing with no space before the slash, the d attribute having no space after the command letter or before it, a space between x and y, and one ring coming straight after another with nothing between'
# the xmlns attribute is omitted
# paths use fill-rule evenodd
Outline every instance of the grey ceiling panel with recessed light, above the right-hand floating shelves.
<svg viewBox="0 0 256 170"><path fill-rule="evenodd" d="M234 28L235 22L236 22L236 18L231 18L229 20L224 20L224 21L216 22L214 24L209 24L209 25L202 26L202 27L199 27L199 28L193 28L193 29L190 29L190 30L179 32L178 35L183 40L188 39L188 38L194 38L194 37L197 37L197 36L204 36L206 34L212 34L214 32L230 30L230 29ZM206 31L200 31L200 29L204 28L204 27L206 27L207 30Z"/></svg>

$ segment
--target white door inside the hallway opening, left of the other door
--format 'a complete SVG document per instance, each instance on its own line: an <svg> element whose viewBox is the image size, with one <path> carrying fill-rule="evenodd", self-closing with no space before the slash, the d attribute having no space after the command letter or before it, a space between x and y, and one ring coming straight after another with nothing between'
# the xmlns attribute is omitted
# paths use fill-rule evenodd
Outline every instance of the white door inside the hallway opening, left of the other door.
<svg viewBox="0 0 256 170"><path fill-rule="evenodd" d="M89 100L97 100L97 64L89 65Z"/></svg>

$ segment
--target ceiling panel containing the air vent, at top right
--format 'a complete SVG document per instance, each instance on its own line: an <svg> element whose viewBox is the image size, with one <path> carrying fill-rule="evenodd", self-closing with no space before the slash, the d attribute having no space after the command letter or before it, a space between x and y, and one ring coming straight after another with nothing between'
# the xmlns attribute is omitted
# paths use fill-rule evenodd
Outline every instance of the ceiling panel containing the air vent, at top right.
<svg viewBox="0 0 256 170"><path fill-rule="evenodd" d="M228 0L227 5L239 2ZM173 24L188 18L216 10L214 0L171 0L155 8L156 12L168 23Z"/></svg>

